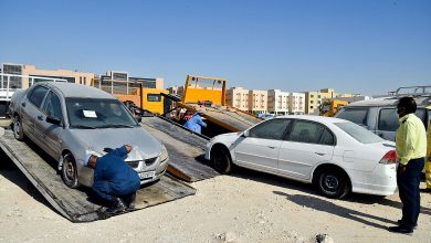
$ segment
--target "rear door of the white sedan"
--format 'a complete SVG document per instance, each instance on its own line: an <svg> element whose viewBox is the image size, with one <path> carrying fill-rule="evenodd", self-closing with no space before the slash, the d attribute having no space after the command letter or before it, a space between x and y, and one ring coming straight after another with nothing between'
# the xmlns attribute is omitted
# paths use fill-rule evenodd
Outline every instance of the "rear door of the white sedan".
<svg viewBox="0 0 431 243"><path fill-rule="evenodd" d="M280 172L308 180L315 165L330 160L334 146L335 136L326 126L296 119L280 147Z"/></svg>

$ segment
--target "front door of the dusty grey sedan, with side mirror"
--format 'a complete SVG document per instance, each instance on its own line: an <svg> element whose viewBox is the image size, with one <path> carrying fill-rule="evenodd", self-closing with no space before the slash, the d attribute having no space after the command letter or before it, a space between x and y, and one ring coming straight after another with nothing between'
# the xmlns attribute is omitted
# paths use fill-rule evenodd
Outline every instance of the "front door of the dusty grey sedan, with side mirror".
<svg viewBox="0 0 431 243"><path fill-rule="evenodd" d="M46 122L46 117L61 120L61 124ZM42 105L42 112L34 119L34 134L40 147L50 156L57 159L61 150L61 133L63 131L63 113L59 96L50 91Z"/></svg>

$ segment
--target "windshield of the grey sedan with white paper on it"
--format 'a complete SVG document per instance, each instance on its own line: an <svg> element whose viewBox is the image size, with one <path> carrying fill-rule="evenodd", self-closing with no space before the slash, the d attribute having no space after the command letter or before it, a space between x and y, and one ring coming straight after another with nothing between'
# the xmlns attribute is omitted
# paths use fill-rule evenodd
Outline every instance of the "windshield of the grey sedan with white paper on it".
<svg viewBox="0 0 431 243"><path fill-rule="evenodd" d="M138 123L117 99L66 98L72 128L136 127Z"/></svg>

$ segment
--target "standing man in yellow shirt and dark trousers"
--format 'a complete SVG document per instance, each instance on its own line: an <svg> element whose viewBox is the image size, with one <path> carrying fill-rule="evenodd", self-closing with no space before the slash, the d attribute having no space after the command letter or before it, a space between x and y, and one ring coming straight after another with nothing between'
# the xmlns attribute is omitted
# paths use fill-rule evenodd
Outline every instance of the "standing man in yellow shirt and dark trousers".
<svg viewBox="0 0 431 243"><path fill-rule="evenodd" d="M414 113L412 97L398 101L397 113L400 127L397 130L396 147L398 157L397 184L402 202L402 218L398 226L389 231L410 234L418 224L420 212L419 183L427 154L427 134L421 119Z"/></svg>

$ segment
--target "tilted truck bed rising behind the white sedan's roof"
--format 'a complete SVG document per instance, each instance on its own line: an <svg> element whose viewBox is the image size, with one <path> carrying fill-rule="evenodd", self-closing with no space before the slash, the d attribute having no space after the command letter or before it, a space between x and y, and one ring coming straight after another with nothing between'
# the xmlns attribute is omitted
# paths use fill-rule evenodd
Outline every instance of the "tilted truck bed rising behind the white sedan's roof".
<svg viewBox="0 0 431 243"><path fill-rule="evenodd" d="M203 117L229 131L243 131L263 119L227 106L183 105L185 108L202 113Z"/></svg>

